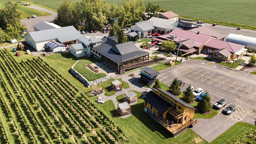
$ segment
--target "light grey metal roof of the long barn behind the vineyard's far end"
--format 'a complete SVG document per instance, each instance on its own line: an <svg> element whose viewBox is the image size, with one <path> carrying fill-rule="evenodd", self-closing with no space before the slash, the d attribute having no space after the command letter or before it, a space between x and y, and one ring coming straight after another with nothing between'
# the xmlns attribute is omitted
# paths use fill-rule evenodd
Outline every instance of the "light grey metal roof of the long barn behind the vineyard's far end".
<svg viewBox="0 0 256 144"><path fill-rule="evenodd" d="M73 34L78 34L78 31L74 26L68 26L68 27L47 29L47 30L41 30L41 31L33 31L26 34L25 39L27 35L30 35L31 38L35 41L35 43L37 43L37 42L43 42L43 41L50 41L59 36L67 36L67 35L73 35Z"/></svg>

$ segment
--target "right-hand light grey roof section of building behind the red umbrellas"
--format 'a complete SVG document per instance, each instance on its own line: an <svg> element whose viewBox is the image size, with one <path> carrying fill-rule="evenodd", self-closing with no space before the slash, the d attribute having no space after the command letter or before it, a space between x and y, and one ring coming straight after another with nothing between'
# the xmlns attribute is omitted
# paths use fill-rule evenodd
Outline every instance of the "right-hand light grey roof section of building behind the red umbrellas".
<svg viewBox="0 0 256 144"><path fill-rule="evenodd" d="M165 28L165 29L169 28L173 24L175 24L174 25L175 27L173 27L173 29L176 28L179 25L178 21L168 20L168 19L161 19L161 18L156 18L156 17L150 18L149 21L153 22L154 27Z"/></svg>

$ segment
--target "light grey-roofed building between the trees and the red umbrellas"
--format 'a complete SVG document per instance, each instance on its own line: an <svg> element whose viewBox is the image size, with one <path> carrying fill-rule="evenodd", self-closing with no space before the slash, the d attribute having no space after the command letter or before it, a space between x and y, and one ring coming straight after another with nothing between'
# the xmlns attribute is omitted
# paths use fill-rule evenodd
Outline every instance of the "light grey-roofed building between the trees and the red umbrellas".
<svg viewBox="0 0 256 144"><path fill-rule="evenodd" d="M149 20L135 23L132 31L140 31L141 37L151 36L153 33L169 33L179 25L178 21L152 17Z"/></svg>

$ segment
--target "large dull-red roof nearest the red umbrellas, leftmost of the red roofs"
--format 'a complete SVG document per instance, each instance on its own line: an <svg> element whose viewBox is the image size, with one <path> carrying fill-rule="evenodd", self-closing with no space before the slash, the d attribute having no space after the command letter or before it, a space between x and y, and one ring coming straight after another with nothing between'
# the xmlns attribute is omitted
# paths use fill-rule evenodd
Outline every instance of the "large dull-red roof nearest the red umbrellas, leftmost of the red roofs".
<svg viewBox="0 0 256 144"><path fill-rule="evenodd" d="M170 35L174 35L174 36L177 36L177 37L172 38ZM194 45L196 47L200 47L200 46L204 45L207 41L209 41L209 39L212 38L212 36L204 35L204 34L191 33L189 31L176 28L176 29L172 30L171 33L164 34L164 35L161 35L161 36L157 36L157 38L158 39L166 39L166 40L170 39L174 42L179 42L179 40L180 41L186 41L190 38L193 38Z"/></svg>

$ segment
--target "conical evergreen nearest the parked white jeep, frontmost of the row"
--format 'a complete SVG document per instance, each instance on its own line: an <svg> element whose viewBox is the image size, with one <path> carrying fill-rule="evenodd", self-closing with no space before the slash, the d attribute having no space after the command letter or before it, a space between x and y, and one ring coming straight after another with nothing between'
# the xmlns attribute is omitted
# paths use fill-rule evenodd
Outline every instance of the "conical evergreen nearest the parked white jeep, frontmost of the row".
<svg viewBox="0 0 256 144"><path fill-rule="evenodd" d="M209 96L209 93L206 91L205 95L202 97L202 100L200 100L197 104L197 109L201 111L201 113L205 113L206 111L211 110L211 98Z"/></svg>

